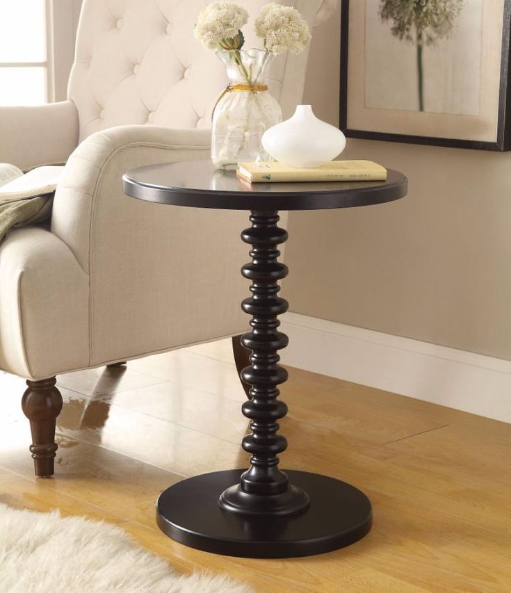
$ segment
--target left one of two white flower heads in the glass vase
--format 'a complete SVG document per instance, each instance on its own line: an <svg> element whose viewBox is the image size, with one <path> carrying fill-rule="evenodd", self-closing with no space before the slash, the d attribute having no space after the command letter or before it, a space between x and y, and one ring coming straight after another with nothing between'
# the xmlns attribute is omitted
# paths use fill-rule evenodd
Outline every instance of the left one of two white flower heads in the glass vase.
<svg viewBox="0 0 511 593"><path fill-rule="evenodd" d="M243 44L240 29L247 21L245 8L234 2L213 2L200 11L195 37L207 49L218 49L222 42L225 42L224 49L239 49Z"/></svg>

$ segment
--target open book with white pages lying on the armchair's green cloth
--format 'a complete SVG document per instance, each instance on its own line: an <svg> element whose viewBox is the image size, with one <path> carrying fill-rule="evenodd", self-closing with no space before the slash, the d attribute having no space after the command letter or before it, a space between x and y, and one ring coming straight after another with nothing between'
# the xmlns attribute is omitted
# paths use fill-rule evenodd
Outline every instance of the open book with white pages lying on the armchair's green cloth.
<svg viewBox="0 0 511 593"><path fill-rule="evenodd" d="M24 173L15 165L0 163L0 202L26 200L56 190L63 165L49 165Z"/></svg>

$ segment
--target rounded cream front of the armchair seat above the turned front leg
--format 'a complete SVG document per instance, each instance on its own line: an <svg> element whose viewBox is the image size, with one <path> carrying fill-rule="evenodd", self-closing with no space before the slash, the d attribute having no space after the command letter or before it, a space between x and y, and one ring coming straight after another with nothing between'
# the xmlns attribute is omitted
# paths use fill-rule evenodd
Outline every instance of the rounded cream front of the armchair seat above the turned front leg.
<svg viewBox="0 0 511 593"><path fill-rule="evenodd" d="M0 368L40 380L88 366L89 278L58 237L15 229L0 243Z"/></svg>

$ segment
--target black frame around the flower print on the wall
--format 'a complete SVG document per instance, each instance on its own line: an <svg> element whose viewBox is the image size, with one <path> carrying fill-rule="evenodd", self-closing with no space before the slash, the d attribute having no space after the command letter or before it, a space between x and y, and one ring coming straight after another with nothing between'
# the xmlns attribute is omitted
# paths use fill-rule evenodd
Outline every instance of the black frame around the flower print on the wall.
<svg viewBox="0 0 511 593"><path fill-rule="evenodd" d="M407 134L372 132L348 128L349 15L350 1L341 0L341 94L339 104L339 128L348 138L364 138L366 140L383 140L386 142L443 146L450 148L492 150L496 152L505 152L511 150L511 0L504 0L501 76L498 95L496 142L460 140L457 138L435 138L434 136L413 136Z"/></svg>

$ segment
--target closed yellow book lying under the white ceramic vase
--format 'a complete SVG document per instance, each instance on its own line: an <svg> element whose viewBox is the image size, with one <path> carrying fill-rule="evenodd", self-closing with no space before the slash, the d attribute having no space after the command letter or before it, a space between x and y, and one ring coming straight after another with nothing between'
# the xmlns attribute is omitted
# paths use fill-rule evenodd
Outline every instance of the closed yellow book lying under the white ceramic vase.
<svg viewBox="0 0 511 593"><path fill-rule="evenodd" d="M295 169L282 163L238 163L236 174L252 184L294 181L385 181L387 169L373 161L330 161L319 167Z"/></svg>

